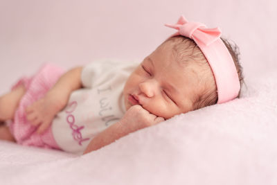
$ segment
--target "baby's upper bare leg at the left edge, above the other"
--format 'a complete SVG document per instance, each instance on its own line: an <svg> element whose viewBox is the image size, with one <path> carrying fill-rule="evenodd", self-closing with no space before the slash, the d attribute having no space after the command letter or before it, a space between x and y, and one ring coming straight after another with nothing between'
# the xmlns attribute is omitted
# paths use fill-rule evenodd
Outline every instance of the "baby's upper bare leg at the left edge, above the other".
<svg viewBox="0 0 277 185"><path fill-rule="evenodd" d="M15 115L15 110L25 94L24 85L20 85L16 89L13 89L8 94L0 97L0 122L12 119Z"/></svg>

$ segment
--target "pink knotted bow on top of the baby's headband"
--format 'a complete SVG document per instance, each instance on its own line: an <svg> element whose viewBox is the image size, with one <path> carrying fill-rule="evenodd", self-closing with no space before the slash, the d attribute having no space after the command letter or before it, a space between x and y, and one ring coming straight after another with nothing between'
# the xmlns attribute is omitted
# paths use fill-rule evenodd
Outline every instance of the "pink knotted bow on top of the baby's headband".
<svg viewBox="0 0 277 185"><path fill-rule="evenodd" d="M189 22L183 15L179 18L177 24L166 24L165 26L177 29L178 32L175 35L197 39L206 46L212 44L221 36L220 28L207 28L205 24Z"/></svg>

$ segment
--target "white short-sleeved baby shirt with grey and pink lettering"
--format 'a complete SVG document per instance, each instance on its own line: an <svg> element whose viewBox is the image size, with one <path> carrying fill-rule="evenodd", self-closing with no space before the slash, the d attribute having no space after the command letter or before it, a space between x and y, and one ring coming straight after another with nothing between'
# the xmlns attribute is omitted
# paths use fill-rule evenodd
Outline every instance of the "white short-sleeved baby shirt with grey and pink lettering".
<svg viewBox="0 0 277 185"><path fill-rule="evenodd" d="M55 116L51 126L62 150L82 154L96 134L123 116L123 87L138 64L102 60L84 67L84 88L73 91L66 108Z"/></svg>

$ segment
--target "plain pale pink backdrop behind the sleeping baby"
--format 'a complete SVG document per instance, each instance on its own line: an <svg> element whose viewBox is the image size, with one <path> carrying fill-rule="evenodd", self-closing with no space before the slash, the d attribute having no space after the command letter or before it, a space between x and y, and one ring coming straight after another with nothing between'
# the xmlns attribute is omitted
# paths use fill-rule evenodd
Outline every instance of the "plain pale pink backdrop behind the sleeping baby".
<svg viewBox="0 0 277 185"><path fill-rule="evenodd" d="M0 93L44 62L66 69L99 58L142 60L180 15L220 26L241 50L246 79L276 69L277 3L267 1L0 0Z"/></svg>

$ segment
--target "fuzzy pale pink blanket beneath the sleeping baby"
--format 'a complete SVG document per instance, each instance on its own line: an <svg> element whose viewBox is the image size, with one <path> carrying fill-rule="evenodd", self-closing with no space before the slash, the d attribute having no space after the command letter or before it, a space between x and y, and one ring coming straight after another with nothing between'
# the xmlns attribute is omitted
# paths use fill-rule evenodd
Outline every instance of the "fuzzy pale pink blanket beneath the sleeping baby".
<svg viewBox="0 0 277 185"><path fill-rule="evenodd" d="M276 184L277 74L81 157L0 141L1 184Z"/></svg>

